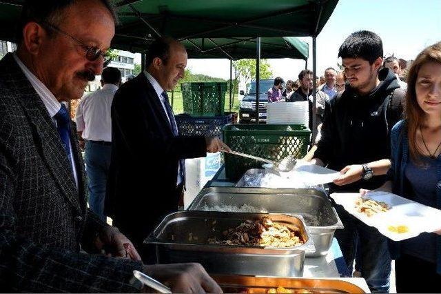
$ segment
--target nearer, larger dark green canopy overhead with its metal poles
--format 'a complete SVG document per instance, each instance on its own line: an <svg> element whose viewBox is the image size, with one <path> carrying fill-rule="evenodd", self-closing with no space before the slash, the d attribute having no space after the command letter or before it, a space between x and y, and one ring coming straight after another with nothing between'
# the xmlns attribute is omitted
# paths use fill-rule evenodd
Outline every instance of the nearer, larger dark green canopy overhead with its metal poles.
<svg viewBox="0 0 441 294"><path fill-rule="evenodd" d="M13 39L14 25L23 2L24 0L0 0L0 39L8 41ZM132 39L132 42L127 42L127 46L140 39L151 39L161 35L170 35L181 40L256 37L256 63L258 63L260 37L309 36L313 39L315 73L316 37L334 11L338 0L114 0L113 2L119 8L118 14L121 19L121 24L116 28L114 45L119 43L120 37L125 40ZM258 70L256 73L258 82ZM314 79L314 92L315 89ZM256 99L258 110L258 97Z"/></svg>

